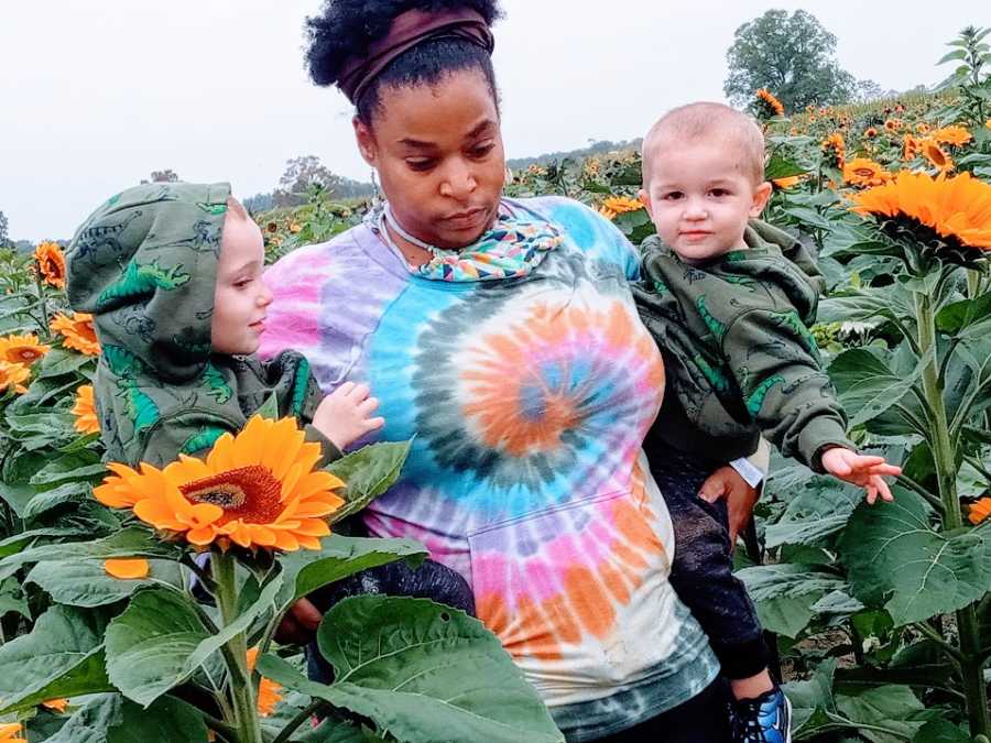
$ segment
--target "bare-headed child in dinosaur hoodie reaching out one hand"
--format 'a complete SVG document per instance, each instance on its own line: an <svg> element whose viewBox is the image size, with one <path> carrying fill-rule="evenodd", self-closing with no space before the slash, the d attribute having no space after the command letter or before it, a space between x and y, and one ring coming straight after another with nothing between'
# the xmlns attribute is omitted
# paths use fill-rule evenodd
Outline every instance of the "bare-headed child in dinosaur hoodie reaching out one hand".
<svg viewBox="0 0 991 743"><path fill-rule="evenodd" d="M807 325L818 271L791 236L762 222L771 195L764 138L720 103L663 117L643 143L640 198L657 234L634 286L669 393L644 448L675 527L672 584L709 635L730 680L734 740L791 740L789 709L767 674L760 622L732 575L726 504L701 498L721 462L761 436L817 472L892 500L900 469L857 454Z"/></svg>

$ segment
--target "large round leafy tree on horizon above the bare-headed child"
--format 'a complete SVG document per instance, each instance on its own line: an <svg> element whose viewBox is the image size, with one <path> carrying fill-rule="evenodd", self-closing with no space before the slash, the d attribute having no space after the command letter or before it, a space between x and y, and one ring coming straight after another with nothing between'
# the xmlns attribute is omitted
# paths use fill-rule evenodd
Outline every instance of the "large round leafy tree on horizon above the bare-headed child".
<svg viewBox="0 0 991 743"><path fill-rule="evenodd" d="M834 56L836 36L804 10L791 15L769 10L737 29L733 39L722 89L736 106L750 103L760 88L774 94L788 113L842 103L853 95L853 76Z"/></svg>

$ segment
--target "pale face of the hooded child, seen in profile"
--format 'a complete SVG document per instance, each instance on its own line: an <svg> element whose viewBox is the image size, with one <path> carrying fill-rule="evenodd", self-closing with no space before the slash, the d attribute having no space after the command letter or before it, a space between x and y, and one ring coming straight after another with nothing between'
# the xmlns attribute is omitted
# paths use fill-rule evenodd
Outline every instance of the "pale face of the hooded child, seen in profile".
<svg viewBox="0 0 991 743"><path fill-rule="evenodd" d="M251 219L228 211L220 236L210 339L215 353L250 354L265 329L272 293L262 283L264 243Z"/></svg>

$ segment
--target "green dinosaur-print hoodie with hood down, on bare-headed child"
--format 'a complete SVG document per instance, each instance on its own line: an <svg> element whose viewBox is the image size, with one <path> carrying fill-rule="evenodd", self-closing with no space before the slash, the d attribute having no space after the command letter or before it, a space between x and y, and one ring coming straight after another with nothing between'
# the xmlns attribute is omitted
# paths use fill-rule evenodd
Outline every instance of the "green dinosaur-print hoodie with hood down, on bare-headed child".
<svg viewBox="0 0 991 743"><path fill-rule="evenodd" d="M743 239L745 250L704 264L683 262L656 236L641 248L633 294L669 385L649 448L728 461L753 454L763 434L821 472L824 447L856 450L807 327L821 276L782 230L753 221Z"/></svg>

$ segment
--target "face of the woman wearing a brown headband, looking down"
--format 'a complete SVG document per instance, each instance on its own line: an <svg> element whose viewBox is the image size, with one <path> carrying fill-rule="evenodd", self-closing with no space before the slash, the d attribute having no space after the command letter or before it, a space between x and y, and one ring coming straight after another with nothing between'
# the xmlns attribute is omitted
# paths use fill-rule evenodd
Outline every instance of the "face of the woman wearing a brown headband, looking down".
<svg viewBox="0 0 991 743"><path fill-rule="evenodd" d="M355 119L355 132L395 218L429 244L471 244L494 221L505 179L486 78L464 70L433 85L389 86L381 100L371 128Z"/></svg>

